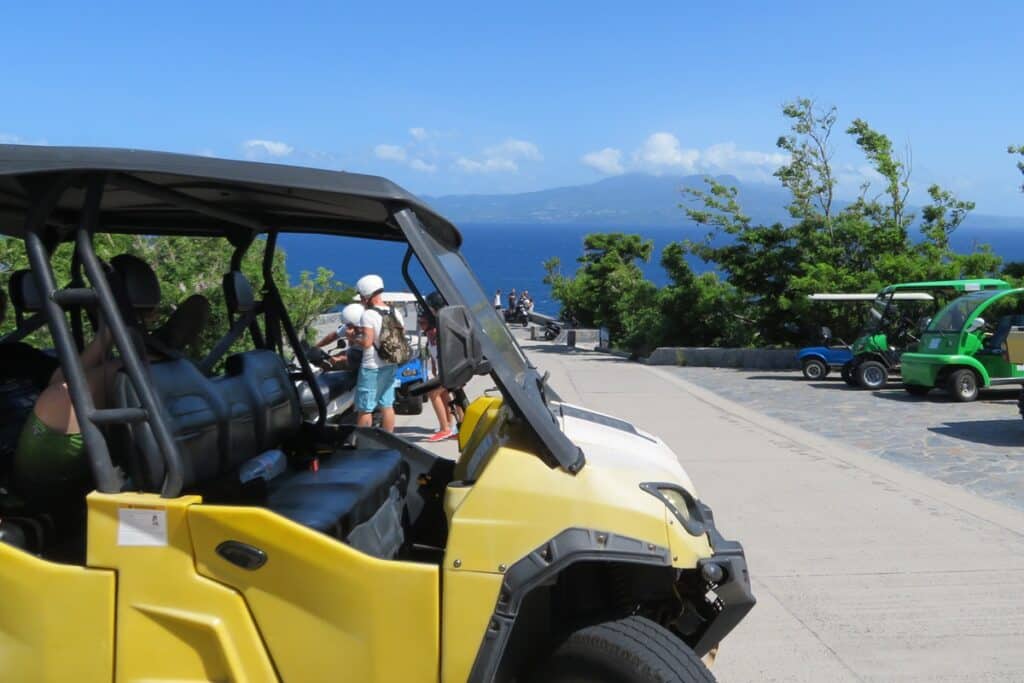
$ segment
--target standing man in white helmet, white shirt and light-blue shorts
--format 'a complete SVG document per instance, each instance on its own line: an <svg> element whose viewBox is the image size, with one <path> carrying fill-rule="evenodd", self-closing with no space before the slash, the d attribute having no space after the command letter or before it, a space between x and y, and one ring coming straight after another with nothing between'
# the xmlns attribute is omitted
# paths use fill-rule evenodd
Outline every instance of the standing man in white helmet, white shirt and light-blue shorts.
<svg viewBox="0 0 1024 683"><path fill-rule="evenodd" d="M380 275L364 275L355 283L359 299L366 310L359 319L362 335L362 365L355 383L356 424L360 427L373 425L373 413L381 411L381 427L394 431L394 377L397 367L385 362L377 353L381 327L388 308L384 303L384 281ZM401 323L401 315L393 311Z"/></svg>

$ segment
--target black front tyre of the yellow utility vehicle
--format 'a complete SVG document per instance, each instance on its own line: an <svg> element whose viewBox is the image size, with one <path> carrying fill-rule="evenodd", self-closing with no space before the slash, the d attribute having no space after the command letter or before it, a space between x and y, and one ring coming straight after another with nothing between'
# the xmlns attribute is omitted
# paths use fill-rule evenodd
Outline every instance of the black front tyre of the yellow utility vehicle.
<svg viewBox="0 0 1024 683"><path fill-rule="evenodd" d="M642 616L572 633L530 680L544 683L714 683L686 643Z"/></svg>

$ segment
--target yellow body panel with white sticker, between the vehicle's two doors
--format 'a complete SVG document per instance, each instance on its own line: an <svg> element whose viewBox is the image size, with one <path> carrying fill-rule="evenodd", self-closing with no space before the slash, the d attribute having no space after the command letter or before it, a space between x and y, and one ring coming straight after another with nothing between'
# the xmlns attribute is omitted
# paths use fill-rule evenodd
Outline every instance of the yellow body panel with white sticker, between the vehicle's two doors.
<svg viewBox="0 0 1024 683"><path fill-rule="evenodd" d="M88 563L118 572L117 681L278 680L242 596L196 571L188 510L200 502L147 494L88 498ZM126 545L124 511L160 515L166 543Z"/></svg>

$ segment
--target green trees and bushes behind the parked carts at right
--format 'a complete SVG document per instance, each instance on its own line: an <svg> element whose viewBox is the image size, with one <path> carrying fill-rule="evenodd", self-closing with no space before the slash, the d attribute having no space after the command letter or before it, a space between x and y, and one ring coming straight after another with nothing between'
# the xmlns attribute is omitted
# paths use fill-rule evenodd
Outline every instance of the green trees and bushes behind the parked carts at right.
<svg viewBox="0 0 1024 683"><path fill-rule="evenodd" d="M775 177L790 191L793 221L755 225L735 187L706 178L705 188L683 188L687 202L681 208L708 233L664 250L669 285L658 289L642 278L637 262L650 258L649 243L618 232L590 234L573 276L561 273L557 259L546 264L546 282L563 314L585 327L607 327L614 345L636 352L664 345L802 344L813 341L822 322L852 341L863 310L812 303L808 294L998 275L1001 259L988 246L968 254L951 249L950 236L974 203L939 185L929 187L921 234L911 238L909 154L897 157L890 138L862 119L846 132L884 186L871 195L865 181L859 199L836 211L830 142L836 108L820 110L797 99L782 114L790 130L776 145L788 161ZM1010 151L1024 155L1024 147ZM1024 172L1024 162L1019 166ZM725 280L715 273L695 276L688 255L715 264ZM1007 273L1024 276L1024 265L1009 264Z"/></svg>

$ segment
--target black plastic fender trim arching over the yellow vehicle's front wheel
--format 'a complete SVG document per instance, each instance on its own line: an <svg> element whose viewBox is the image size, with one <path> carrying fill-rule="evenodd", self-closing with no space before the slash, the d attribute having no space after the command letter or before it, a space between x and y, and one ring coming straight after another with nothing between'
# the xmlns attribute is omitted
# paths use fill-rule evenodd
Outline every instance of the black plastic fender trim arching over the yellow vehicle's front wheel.
<svg viewBox="0 0 1024 683"><path fill-rule="evenodd" d="M498 672L523 599L548 579L575 562L599 560L672 566L668 548L589 528L567 528L505 572L498 604L476 652L470 683L492 681Z"/></svg>

